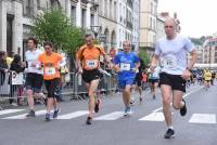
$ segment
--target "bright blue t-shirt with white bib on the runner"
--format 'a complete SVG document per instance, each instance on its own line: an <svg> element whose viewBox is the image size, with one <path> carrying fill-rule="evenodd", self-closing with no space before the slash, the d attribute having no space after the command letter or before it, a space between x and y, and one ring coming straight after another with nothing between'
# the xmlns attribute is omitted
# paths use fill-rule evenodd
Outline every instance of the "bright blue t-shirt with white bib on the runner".
<svg viewBox="0 0 217 145"><path fill-rule="evenodd" d="M136 63L139 63L139 57L135 53L119 52L114 58L114 64L118 64L119 68L122 69L122 72L118 74L118 78L135 78L136 72L133 72L131 69L135 68Z"/></svg>

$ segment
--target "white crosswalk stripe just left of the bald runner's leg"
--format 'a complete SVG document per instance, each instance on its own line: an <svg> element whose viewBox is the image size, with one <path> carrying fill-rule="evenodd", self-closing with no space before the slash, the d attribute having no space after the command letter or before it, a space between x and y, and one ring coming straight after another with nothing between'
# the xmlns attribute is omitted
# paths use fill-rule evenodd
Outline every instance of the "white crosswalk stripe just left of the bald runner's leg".
<svg viewBox="0 0 217 145"><path fill-rule="evenodd" d="M152 113L141 119L140 121L164 121L164 114L163 113Z"/></svg>

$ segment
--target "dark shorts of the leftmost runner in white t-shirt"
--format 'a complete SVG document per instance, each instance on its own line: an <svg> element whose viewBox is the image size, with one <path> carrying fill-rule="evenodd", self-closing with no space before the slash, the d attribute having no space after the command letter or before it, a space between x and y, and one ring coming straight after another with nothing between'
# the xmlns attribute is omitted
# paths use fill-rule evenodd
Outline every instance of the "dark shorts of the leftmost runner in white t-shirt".
<svg viewBox="0 0 217 145"><path fill-rule="evenodd" d="M36 72L27 72L25 88L33 90L35 93L40 93L43 84L43 76Z"/></svg>

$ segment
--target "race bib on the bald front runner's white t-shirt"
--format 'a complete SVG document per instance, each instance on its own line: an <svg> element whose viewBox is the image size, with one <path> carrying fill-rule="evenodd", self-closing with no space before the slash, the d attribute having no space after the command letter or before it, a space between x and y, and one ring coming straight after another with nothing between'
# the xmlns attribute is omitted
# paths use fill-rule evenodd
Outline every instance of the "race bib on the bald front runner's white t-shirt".
<svg viewBox="0 0 217 145"><path fill-rule="evenodd" d="M177 58L175 56L166 56L163 58L162 65L163 65L163 67L166 67L169 69L176 69L177 68Z"/></svg>

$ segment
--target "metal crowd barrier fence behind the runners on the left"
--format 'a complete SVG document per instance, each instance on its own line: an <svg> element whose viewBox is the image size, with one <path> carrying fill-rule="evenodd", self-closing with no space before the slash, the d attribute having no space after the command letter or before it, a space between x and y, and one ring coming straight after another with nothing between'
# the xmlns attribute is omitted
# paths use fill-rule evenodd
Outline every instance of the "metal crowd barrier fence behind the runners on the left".
<svg viewBox="0 0 217 145"><path fill-rule="evenodd" d="M117 76L103 76L100 79L99 88L101 93L112 94L117 90ZM46 93L43 87L42 92ZM86 83L81 75L69 72L62 75L62 83L56 90L56 95L69 95L72 100L85 100L88 96ZM26 98L25 74L15 71L0 74L0 100L9 100L10 103Z"/></svg>

